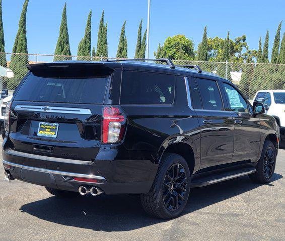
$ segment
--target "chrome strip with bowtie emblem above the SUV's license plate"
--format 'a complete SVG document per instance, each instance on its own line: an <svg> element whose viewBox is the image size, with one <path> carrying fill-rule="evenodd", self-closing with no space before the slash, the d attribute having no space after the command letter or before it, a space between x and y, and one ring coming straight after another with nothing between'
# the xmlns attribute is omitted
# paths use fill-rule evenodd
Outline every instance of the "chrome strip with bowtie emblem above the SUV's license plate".
<svg viewBox="0 0 285 241"><path fill-rule="evenodd" d="M90 109L74 107L56 107L46 105L16 105L15 110L37 111L45 113L65 113L65 114L92 114Z"/></svg>

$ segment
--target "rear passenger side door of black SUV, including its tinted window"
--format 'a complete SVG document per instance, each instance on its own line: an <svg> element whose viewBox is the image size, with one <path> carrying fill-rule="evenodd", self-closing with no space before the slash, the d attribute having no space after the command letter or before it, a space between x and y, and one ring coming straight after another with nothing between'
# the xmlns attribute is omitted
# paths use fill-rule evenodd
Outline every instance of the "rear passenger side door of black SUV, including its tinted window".
<svg viewBox="0 0 285 241"><path fill-rule="evenodd" d="M217 81L191 78L190 85L191 95L197 98L199 91L201 96L201 105L195 104L197 108L201 106L201 109L194 109L201 129L200 168L215 168L231 163L234 144L233 116L224 109Z"/></svg>

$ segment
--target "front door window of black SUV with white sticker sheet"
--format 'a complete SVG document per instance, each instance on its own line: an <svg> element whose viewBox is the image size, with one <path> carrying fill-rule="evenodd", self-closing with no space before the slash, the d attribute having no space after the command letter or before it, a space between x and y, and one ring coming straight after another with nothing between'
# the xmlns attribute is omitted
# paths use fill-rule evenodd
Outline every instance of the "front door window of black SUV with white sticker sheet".
<svg viewBox="0 0 285 241"><path fill-rule="evenodd" d="M223 83L230 108L233 111L248 112L247 102L241 94L231 85Z"/></svg>

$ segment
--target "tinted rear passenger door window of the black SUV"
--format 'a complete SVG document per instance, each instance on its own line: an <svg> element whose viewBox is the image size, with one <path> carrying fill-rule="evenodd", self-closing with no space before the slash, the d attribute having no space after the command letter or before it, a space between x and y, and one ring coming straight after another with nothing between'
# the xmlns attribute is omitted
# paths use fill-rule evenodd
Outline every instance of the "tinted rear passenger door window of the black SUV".
<svg viewBox="0 0 285 241"><path fill-rule="evenodd" d="M202 98L203 109L223 110L221 94L216 81L196 79Z"/></svg>

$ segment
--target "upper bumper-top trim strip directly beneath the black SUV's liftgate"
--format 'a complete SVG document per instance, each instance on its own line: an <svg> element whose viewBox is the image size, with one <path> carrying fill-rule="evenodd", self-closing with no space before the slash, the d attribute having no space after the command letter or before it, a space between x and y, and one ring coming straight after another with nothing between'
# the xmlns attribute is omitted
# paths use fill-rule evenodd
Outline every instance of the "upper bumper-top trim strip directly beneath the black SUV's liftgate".
<svg viewBox="0 0 285 241"><path fill-rule="evenodd" d="M73 159L59 158L59 157L48 157L48 156L41 156L41 155L30 154L30 153L25 153L25 152L17 152L14 150L9 150L6 153L12 156L32 158L32 159L37 159L41 161L61 162L61 163L79 164L79 165L92 165L93 164L92 161L73 160Z"/></svg>

